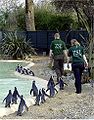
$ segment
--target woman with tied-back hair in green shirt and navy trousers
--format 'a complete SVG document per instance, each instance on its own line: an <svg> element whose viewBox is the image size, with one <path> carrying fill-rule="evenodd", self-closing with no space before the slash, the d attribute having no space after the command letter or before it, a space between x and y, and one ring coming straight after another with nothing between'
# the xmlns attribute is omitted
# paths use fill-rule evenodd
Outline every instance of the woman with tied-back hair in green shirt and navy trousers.
<svg viewBox="0 0 94 120"><path fill-rule="evenodd" d="M85 67L88 67L88 62L84 54L83 47L76 39L71 40L72 47L68 50L68 55L72 57L72 70L75 77L76 93L80 94L82 91L81 76ZM68 63L69 64L69 60Z"/></svg>

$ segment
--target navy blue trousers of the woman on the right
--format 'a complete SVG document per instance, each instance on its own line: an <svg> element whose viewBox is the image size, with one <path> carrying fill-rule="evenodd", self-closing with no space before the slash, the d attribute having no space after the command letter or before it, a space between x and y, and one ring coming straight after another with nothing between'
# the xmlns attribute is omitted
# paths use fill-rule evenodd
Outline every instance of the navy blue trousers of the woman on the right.
<svg viewBox="0 0 94 120"><path fill-rule="evenodd" d="M82 72L84 70L84 63L73 63L72 70L75 77L76 93L81 93L82 90L81 77L82 77Z"/></svg>

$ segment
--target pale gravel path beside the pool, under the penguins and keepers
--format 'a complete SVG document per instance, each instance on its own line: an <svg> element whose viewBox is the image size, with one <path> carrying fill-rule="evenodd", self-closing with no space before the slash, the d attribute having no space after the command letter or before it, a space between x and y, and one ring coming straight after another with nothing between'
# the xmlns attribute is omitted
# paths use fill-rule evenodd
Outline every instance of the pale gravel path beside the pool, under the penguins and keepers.
<svg viewBox="0 0 94 120"><path fill-rule="evenodd" d="M49 80L54 72L48 68L48 57L34 58L32 67L35 75ZM31 106L23 116L16 112L3 119L94 119L94 88L90 84L83 85L81 94L75 93L74 80L66 80L68 86L59 91L54 98L48 98L40 106Z"/></svg>

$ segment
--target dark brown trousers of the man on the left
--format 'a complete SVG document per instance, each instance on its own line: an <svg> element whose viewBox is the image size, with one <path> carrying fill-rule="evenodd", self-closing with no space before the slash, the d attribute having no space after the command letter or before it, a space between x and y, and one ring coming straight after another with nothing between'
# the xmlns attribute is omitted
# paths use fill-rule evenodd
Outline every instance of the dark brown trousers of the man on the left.
<svg viewBox="0 0 94 120"><path fill-rule="evenodd" d="M57 80L64 73L63 63L63 59L54 59L54 68L57 75Z"/></svg>

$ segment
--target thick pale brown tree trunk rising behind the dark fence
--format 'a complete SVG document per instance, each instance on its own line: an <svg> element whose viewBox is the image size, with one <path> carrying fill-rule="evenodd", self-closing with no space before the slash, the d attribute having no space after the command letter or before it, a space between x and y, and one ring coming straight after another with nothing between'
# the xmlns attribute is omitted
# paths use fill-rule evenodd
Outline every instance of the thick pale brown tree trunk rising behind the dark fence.
<svg viewBox="0 0 94 120"><path fill-rule="evenodd" d="M35 31L33 0L25 0L26 5L26 30Z"/></svg>

